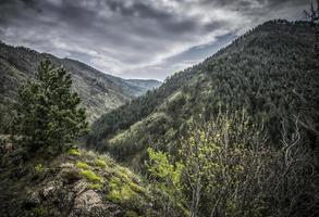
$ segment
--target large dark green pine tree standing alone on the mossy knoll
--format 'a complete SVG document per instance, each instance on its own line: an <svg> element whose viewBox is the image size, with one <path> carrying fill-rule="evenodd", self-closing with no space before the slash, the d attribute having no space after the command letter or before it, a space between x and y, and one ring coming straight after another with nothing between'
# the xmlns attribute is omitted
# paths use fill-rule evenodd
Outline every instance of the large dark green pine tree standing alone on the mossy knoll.
<svg viewBox="0 0 319 217"><path fill-rule="evenodd" d="M36 80L21 87L14 129L30 152L39 149L61 152L86 132L85 110L78 108L81 99L71 92L71 75L45 60Z"/></svg>

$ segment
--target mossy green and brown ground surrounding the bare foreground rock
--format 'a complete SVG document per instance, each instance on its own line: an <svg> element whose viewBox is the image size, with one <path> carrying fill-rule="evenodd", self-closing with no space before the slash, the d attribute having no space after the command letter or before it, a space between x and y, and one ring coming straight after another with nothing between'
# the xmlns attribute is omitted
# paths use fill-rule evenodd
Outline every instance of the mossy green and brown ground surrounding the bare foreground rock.
<svg viewBox="0 0 319 217"><path fill-rule="evenodd" d="M12 216L57 216L63 210L59 209L53 199L30 205L27 202L30 195L42 192L45 188L50 191L60 186L64 191L72 192L79 182L85 191L96 192L102 204L109 204L106 207L116 205L121 216L157 216L150 206L148 188L140 178L119 166L108 155L73 148L50 161L37 156L15 163L11 156L0 156L5 162L0 174L0 193L4 195L0 197L0 208L12 213Z"/></svg>

